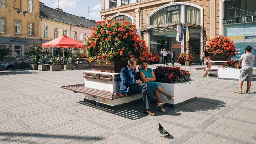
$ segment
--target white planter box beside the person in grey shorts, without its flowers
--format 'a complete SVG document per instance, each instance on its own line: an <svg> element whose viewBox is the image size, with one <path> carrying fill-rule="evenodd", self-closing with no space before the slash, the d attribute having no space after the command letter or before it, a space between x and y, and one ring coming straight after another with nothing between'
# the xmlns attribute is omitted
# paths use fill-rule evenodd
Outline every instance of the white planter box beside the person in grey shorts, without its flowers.
<svg viewBox="0 0 256 144"><path fill-rule="evenodd" d="M218 68L218 79L239 80L241 69Z"/></svg>

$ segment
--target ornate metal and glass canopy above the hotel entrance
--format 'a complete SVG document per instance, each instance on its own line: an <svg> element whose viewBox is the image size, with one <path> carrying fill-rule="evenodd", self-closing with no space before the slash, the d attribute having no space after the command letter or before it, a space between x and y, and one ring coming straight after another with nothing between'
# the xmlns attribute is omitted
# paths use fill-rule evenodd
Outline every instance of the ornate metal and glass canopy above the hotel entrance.
<svg viewBox="0 0 256 144"><path fill-rule="evenodd" d="M187 23L182 24L184 31L186 31ZM194 28L200 28L200 25L194 23L188 23L188 27L190 30ZM156 24L156 25L146 25L140 28L140 32L148 32L148 33L155 33L155 32L167 32L167 31L177 31L177 23L165 23L165 24Z"/></svg>

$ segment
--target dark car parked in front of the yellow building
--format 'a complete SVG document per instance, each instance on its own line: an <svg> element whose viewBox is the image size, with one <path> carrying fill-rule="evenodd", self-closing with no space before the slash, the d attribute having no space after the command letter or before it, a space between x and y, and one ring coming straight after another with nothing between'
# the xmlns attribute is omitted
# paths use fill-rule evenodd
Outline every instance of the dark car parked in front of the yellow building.
<svg viewBox="0 0 256 144"><path fill-rule="evenodd" d="M24 69L27 68L29 64L30 60L28 58L8 57L0 62L0 70Z"/></svg>

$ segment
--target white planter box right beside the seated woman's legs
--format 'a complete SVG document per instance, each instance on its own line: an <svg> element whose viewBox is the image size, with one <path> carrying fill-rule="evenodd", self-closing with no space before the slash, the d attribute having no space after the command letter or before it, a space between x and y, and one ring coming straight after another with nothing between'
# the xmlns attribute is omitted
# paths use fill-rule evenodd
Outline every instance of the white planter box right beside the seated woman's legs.
<svg viewBox="0 0 256 144"><path fill-rule="evenodd" d="M158 82L164 90L172 95L176 96L175 100L168 100L167 97L161 94L161 99L163 102L166 102L164 106L176 108L185 103L189 103L197 99L196 97L196 81L191 81L191 84L166 84L162 82Z"/></svg>

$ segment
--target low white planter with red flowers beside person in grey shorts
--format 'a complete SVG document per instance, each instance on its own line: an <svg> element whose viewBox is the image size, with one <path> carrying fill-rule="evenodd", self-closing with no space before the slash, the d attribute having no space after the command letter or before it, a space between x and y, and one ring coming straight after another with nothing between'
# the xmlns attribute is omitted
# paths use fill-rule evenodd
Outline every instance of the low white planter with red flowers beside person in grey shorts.
<svg viewBox="0 0 256 144"><path fill-rule="evenodd" d="M235 60L222 63L218 68L218 79L238 80L241 66L241 62Z"/></svg>

